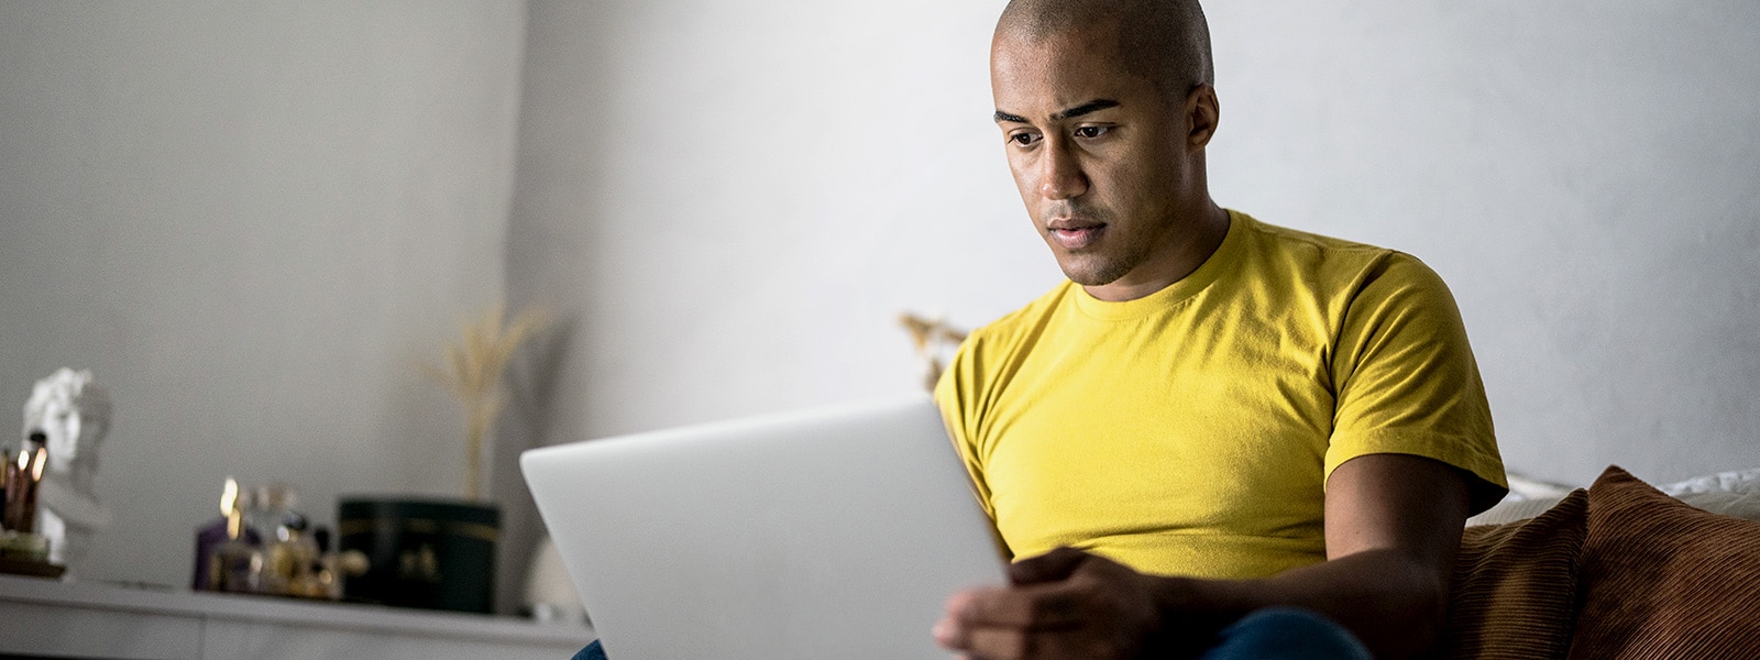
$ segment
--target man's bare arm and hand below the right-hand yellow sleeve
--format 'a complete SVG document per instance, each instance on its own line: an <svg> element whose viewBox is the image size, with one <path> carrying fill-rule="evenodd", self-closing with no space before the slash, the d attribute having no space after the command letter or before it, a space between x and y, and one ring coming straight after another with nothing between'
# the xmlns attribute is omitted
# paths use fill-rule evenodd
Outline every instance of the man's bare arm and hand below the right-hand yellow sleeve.
<svg viewBox="0 0 1760 660"><path fill-rule="evenodd" d="M1447 609L1470 479L1427 458L1359 456L1327 482L1324 563L1213 581L1060 549L1010 567L1008 586L956 593L935 635L984 660L1135 658L1202 648L1246 612L1299 605L1350 628L1378 658L1415 656Z"/></svg>

